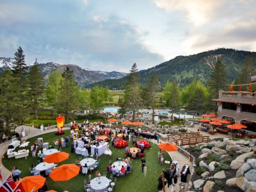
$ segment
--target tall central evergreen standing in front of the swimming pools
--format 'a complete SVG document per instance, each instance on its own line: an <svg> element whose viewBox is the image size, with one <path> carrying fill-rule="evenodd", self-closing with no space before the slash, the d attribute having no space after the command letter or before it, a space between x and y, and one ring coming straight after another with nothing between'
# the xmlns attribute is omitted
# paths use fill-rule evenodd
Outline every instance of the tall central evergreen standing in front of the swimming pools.
<svg viewBox="0 0 256 192"><path fill-rule="evenodd" d="M141 107L142 103L139 74L136 63L133 64L130 74L127 76L124 98L126 108L133 111L133 121L135 121L135 112Z"/></svg>

